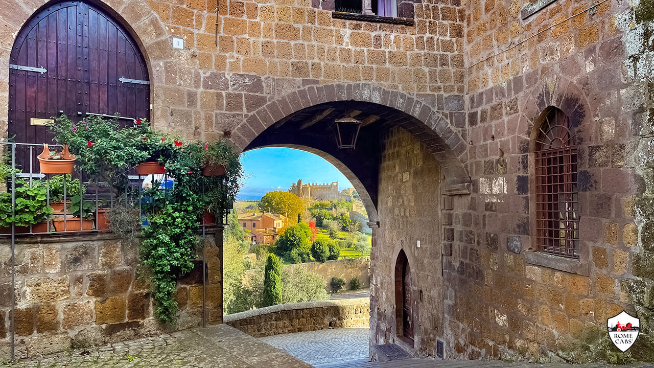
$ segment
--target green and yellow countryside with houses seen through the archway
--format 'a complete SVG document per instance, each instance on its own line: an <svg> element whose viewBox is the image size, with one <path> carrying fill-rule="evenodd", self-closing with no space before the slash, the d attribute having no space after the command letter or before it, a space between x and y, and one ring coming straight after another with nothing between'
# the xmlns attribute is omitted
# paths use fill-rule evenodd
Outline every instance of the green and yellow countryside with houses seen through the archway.
<svg viewBox="0 0 654 368"><path fill-rule="evenodd" d="M237 200L224 231L224 311L324 300L368 287L367 222L358 193L339 190L337 181L300 179L260 200ZM319 266L326 262L337 263Z"/></svg>

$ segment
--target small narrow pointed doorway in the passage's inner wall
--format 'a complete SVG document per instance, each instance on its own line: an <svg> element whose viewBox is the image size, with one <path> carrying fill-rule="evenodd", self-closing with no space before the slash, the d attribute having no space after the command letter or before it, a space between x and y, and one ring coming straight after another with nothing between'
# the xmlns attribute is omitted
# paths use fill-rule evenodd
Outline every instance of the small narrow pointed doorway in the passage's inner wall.
<svg viewBox="0 0 654 368"><path fill-rule="evenodd" d="M413 292L411 284L411 265L404 249L400 249L395 262L395 301L397 335L413 346L415 323L413 319Z"/></svg>

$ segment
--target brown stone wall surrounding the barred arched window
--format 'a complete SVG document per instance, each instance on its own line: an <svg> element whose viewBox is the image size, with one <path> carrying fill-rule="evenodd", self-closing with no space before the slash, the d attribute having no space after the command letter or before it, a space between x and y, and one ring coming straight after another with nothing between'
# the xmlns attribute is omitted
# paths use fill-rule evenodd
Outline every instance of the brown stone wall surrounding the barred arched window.
<svg viewBox="0 0 654 368"><path fill-rule="evenodd" d="M606 335L606 319L623 309L648 316L625 286L643 276L630 261L640 253L632 196L644 127L642 86L627 77L635 59L625 61L625 50L642 50L635 33L623 34L634 10L624 1L555 1L525 18L525 7L466 3L473 194L443 203L447 356L651 360L651 337L621 354ZM579 261L534 252L533 141L548 106L576 126Z"/></svg>

